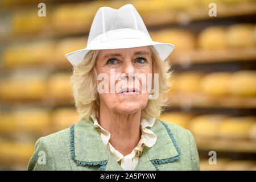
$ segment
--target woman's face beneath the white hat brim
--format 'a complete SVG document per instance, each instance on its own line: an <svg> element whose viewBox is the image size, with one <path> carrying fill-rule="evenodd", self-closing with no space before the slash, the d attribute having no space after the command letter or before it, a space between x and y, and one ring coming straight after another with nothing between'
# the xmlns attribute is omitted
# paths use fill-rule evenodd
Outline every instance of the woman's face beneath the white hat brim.
<svg viewBox="0 0 256 182"><path fill-rule="evenodd" d="M146 107L147 88L152 83L147 81L148 73L152 75L149 47L100 50L96 71L98 76L105 75L98 80L98 88L105 90L98 92L100 107L119 114L136 113Z"/></svg>

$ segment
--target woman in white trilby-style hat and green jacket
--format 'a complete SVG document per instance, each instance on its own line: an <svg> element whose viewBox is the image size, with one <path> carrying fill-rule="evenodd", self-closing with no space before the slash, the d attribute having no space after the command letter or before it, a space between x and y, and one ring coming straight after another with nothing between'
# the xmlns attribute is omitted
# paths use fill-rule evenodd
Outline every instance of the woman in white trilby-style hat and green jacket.
<svg viewBox="0 0 256 182"><path fill-rule="evenodd" d="M87 47L66 55L81 119L41 137L28 170L200 170L191 132L155 119L173 49L152 41L133 5L101 7Z"/></svg>

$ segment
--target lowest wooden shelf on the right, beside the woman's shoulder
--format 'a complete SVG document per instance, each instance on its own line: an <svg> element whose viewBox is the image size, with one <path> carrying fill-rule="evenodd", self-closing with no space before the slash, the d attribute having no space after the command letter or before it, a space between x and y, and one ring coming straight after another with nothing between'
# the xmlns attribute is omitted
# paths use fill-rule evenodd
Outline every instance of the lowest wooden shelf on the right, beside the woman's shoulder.
<svg viewBox="0 0 256 182"><path fill-rule="evenodd" d="M195 137L198 150L256 153L256 142L250 140L203 139Z"/></svg>

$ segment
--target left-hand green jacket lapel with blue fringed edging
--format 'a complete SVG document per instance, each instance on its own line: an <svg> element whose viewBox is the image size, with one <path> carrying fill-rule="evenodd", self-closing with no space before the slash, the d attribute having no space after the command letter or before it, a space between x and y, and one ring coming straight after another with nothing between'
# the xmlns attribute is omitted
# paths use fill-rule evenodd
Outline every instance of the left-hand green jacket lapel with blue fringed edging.
<svg viewBox="0 0 256 182"><path fill-rule="evenodd" d="M92 119L71 126L71 156L79 166L100 166L100 170L122 170L101 140Z"/></svg>

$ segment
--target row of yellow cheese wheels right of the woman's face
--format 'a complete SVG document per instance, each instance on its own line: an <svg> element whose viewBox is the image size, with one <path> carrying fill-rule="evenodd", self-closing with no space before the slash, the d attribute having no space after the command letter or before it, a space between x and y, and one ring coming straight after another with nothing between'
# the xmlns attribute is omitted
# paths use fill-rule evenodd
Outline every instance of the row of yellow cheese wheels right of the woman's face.
<svg viewBox="0 0 256 182"><path fill-rule="evenodd" d="M169 93L200 93L207 96L256 96L256 72L182 72L170 78Z"/></svg>

